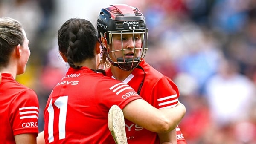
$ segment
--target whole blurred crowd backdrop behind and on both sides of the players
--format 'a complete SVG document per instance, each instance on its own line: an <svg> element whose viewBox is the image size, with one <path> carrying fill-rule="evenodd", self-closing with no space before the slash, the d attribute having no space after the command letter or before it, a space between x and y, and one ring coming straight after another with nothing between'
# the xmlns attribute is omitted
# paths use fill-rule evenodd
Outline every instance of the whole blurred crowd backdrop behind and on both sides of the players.
<svg viewBox="0 0 256 144"><path fill-rule="evenodd" d="M0 1L0 16L19 20L30 40L26 73L17 80L38 94L40 130L49 93L67 70L56 44L64 22L58 19L61 3ZM187 110L179 126L188 144L256 144L256 0L115 3L136 6L144 14L149 29L145 60L179 87ZM90 13L94 21L100 8Z"/></svg>

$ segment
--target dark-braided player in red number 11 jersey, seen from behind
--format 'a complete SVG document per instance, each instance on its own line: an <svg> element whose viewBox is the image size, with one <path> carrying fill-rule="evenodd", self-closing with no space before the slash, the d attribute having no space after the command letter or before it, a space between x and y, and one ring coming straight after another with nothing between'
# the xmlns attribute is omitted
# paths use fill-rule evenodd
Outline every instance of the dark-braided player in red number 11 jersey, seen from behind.
<svg viewBox="0 0 256 144"><path fill-rule="evenodd" d="M113 105L122 109L126 119L159 133L173 130L185 115L182 104L166 111L156 109L131 86L97 70L100 44L89 21L67 20L58 31L58 45L70 67L49 95L44 135L39 135L38 143L114 144L108 130L108 112Z"/></svg>

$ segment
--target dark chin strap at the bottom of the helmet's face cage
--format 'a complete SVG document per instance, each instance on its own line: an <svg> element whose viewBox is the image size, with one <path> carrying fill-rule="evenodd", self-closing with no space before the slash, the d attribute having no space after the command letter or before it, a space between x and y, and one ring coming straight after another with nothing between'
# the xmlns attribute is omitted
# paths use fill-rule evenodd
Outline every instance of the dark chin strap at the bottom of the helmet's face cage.
<svg viewBox="0 0 256 144"><path fill-rule="evenodd" d="M117 63L114 63L113 66L117 66L122 70L130 71L138 66L140 63L140 57L137 58L117 58ZM124 61L125 60L125 61Z"/></svg>

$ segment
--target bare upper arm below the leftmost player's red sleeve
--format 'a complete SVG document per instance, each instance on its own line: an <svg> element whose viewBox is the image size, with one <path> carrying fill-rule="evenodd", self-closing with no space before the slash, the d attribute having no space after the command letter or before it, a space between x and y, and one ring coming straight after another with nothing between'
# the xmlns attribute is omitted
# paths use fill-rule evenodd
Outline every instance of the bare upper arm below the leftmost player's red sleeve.
<svg viewBox="0 0 256 144"><path fill-rule="evenodd" d="M25 133L14 136L16 144L36 144L36 134Z"/></svg>

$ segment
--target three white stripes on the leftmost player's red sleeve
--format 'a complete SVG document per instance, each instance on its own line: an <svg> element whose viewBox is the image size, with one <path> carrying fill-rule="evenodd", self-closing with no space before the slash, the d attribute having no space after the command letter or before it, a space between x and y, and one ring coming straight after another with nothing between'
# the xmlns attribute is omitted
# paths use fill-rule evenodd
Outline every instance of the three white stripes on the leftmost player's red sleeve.
<svg viewBox="0 0 256 144"><path fill-rule="evenodd" d="M38 119L38 107L21 107L19 108L20 119L36 118Z"/></svg>

